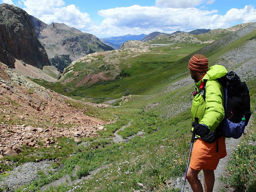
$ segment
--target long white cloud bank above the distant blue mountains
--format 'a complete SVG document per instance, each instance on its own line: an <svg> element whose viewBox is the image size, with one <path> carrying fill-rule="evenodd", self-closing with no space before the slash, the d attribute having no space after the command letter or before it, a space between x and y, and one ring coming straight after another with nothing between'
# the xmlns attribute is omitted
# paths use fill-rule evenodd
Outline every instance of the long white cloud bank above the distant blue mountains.
<svg viewBox="0 0 256 192"><path fill-rule="evenodd" d="M217 10L199 10L197 8L159 8L138 5L108 10L98 14L105 19L104 26L130 26L131 28L184 28L186 26L207 26L208 20Z"/></svg>

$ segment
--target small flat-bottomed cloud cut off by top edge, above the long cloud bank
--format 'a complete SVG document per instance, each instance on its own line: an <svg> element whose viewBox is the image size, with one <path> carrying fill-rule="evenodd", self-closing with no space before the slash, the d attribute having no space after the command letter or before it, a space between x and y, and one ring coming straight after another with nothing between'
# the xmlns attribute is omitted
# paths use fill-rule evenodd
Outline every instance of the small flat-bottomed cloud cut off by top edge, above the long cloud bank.
<svg viewBox="0 0 256 192"><path fill-rule="evenodd" d="M205 1L206 0L156 0L156 6L170 8L189 8L198 6Z"/></svg>

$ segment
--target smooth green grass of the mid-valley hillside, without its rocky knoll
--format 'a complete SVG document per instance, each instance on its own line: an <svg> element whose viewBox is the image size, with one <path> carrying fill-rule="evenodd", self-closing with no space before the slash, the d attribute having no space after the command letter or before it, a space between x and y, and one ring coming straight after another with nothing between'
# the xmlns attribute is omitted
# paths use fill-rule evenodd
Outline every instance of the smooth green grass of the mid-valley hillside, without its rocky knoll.
<svg viewBox="0 0 256 192"><path fill-rule="evenodd" d="M179 46L179 49L171 50L171 47ZM74 72L78 71L79 76L66 84L48 83L43 81L36 82L46 88L51 88L56 92L67 96L78 96L81 98L94 98L100 102L109 99L120 98L129 94L147 94L155 89L155 86L166 86L170 81L178 76L186 74L186 64L175 63L185 55L202 48L204 45L184 44L175 46L163 46L161 48L152 48L149 53L140 54L134 58L124 59L120 57L121 63L119 70L128 76L118 76L112 81L101 81L90 86L88 84L76 87L76 84L82 80L89 72L97 73L102 65L102 60L92 64L82 62L74 65ZM130 65L130 68L127 66ZM86 68L86 70L84 70ZM81 70L84 70L81 73ZM74 72L66 75L65 78L74 78ZM64 79L65 80L65 79ZM66 91L65 91L66 90Z"/></svg>

